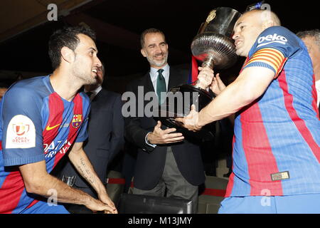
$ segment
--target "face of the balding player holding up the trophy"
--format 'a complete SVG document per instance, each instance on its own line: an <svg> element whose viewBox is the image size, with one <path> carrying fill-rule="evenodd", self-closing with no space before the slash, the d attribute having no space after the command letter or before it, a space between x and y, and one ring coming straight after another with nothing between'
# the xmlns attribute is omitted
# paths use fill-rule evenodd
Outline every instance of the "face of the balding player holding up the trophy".
<svg viewBox="0 0 320 228"><path fill-rule="evenodd" d="M235 23L233 39L238 56L248 56L257 37L265 30L261 14L250 11L243 14Z"/></svg>

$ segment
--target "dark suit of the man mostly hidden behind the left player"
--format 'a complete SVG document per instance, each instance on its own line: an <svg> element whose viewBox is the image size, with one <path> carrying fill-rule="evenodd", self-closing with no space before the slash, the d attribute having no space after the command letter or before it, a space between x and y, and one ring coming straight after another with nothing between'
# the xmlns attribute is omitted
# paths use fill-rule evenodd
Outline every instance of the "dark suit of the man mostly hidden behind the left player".
<svg viewBox="0 0 320 228"><path fill-rule="evenodd" d="M121 96L102 88L91 102L88 123L88 138L84 150L102 182L105 182L108 162L124 144L124 118L121 113ZM60 177L76 176L75 187L90 187L68 161ZM85 192L92 195L91 190Z"/></svg>

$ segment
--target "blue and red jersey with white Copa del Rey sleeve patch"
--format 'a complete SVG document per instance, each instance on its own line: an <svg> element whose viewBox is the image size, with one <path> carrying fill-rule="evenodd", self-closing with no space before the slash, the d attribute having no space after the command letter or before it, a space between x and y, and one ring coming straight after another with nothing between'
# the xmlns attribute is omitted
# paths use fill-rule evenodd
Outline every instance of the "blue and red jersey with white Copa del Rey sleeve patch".
<svg viewBox="0 0 320 228"><path fill-rule="evenodd" d="M65 100L53 90L50 76L9 88L0 112L0 213L20 213L36 202L26 192L18 165L46 160L51 172L73 142L87 138L89 112L85 93Z"/></svg>

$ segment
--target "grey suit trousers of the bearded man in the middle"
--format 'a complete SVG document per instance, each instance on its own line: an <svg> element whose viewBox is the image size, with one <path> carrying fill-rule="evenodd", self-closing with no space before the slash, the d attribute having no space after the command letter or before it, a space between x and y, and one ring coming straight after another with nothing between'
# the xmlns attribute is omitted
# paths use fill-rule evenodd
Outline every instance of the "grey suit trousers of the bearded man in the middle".
<svg viewBox="0 0 320 228"><path fill-rule="evenodd" d="M151 190L139 190L134 187L132 193L137 195L192 199L193 213L195 214L198 210L198 185L191 185L181 175L171 147L168 147L166 151L164 172L162 173L159 183L156 185L156 187Z"/></svg>

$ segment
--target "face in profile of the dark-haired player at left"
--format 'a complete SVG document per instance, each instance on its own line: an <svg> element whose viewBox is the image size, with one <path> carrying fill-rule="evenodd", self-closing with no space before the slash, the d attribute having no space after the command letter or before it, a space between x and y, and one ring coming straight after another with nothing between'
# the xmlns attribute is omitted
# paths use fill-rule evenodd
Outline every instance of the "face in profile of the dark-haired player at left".
<svg viewBox="0 0 320 228"><path fill-rule="evenodd" d="M97 58L97 47L89 36L78 34L78 38L80 42L74 51L73 76L80 79L84 85L96 83L97 71L102 65Z"/></svg>

